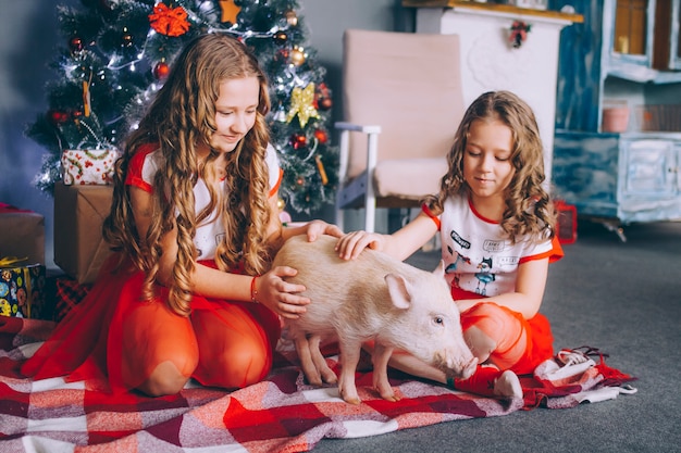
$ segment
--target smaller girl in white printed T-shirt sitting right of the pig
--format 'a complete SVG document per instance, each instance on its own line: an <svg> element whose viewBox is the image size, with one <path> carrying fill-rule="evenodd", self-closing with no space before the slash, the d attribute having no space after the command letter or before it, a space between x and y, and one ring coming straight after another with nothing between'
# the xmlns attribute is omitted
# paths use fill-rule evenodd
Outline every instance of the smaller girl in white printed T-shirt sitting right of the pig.
<svg viewBox="0 0 681 453"><path fill-rule="evenodd" d="M478 369L451 379L405 353L391 364L459 390L519 398L517 374L554 355L538 310L548 264L562 256L532 110L508 91L481 95L466 111L447 162L439 193L425 199L413 221L393 235L347 234L337 250L346 260L367 247L405 260L439 231L445 278Z"/></svg>

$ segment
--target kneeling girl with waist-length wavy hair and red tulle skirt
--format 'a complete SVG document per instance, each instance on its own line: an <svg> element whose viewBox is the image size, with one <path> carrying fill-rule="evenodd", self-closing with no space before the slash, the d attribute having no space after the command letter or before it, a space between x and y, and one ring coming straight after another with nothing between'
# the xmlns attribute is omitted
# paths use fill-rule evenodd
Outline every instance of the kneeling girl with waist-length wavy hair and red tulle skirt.
<svg viewBox="0 0 681 453"><path fill-rule="evenodd" d="M189 378L243 388L272 365L281 319L310 302L270 268L283 228L267 80L237 39L207 34L173 64L116 162L103 237L115 252L85 300L23 366L116 391L175 394Z"/></svg>

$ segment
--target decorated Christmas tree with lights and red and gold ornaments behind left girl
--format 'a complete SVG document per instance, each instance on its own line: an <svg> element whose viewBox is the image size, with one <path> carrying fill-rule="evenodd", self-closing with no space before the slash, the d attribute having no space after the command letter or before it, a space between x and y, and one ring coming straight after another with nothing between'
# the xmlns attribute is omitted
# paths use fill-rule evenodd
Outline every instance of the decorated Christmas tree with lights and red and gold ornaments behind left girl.
<svg viewBox="0 0 681 453"><path fill-rule="evenodd" d="M326 71L307 42L295 0L82 0L58 5L64 41L48 111L26 135L46 153L35 185L52 193L67 149L120 148L191 38L227 33L250 47L270 81L271 141L283 203L309 214L333 201L337 149L329 140Z"/></svg>

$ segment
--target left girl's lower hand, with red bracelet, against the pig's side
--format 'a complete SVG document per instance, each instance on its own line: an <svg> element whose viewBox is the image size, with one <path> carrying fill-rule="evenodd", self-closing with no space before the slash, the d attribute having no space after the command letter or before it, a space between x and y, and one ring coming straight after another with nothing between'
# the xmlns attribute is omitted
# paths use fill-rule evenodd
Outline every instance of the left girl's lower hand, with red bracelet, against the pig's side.
<svg viewBox="0 0 681 453"><path fill-rule="evenodd" d="M287 319L297 319L305 313L310 299L299 295L306 290L304 285L287 282L284 277L293 277L298 272L288 266L276 266L256 280L258 295L256 300L277 315Z"/></svg>

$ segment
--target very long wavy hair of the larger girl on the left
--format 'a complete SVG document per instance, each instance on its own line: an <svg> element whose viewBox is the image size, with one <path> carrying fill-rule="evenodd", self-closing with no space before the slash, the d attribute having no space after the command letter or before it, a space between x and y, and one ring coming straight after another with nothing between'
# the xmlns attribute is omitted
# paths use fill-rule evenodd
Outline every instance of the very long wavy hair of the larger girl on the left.
<svg viewBox="0 0 681 453"><path fill-rule="evenodd" d="M257 77L260 99L255 126L236 149L227 154L224 192L211 184L218 177L211 150L198 163L197 147L210 143L215 133L215 102L221 83ZM177 314L190 313L190 275L198 251L196 228L215 211L226 231L215 252L221 270L240 263L249 274L268 267L271 250L267 244L269 214L269 172L265 151L269 130L264 115L270 109L265 75L257 59L237 39L224 34L207 34L190 41L177 56L163 87L158 91L139 127L126 140L116 162L111 213L104 221L103 236L112 250L124 252L145 272L143 299L154 297L153 284L163 254L161 237L177 229L177 260L169 285L169 306ZM129 193L125 185L131 158L145 143L154 143L163 155L156 174L152 222L146 237L137 234ZM207 183L210 203L195 212L194 186Z"/></svg>

